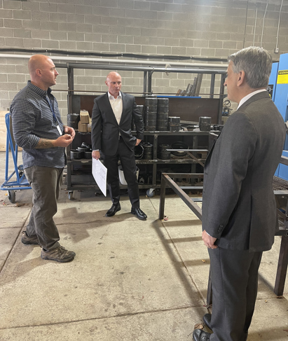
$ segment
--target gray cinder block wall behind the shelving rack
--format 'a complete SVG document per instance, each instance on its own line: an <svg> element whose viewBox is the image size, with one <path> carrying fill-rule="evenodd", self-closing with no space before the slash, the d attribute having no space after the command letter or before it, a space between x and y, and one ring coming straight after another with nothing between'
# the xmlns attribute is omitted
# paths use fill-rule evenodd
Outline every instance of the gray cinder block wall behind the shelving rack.
<svg viewBox="0 0 288 341"><path fill-rule="evenodd" d="M0 0L0 49L227 57L254 42L255 46L269 50L274 60L279 60L281 53L288 52L288 0L284 0L279 53L274 53L281 3L281 0L268 0L266 8L266 0ZM28 60L1 57L1 53L0 110L6 110L29 79ZM167 64L174 66L174 63L167 60ZM60 76L54 88L66 90L67 71L58 71ZM105 91L107 72L78 69L75 88ZM142 92L142 72L121 71L121 75L123 91ZM153 91L184 90L195 76L155 73ZM203 77L201 92L210 92L210 76ZM55 96L65 117L67 92L55 91Z"/></svg>

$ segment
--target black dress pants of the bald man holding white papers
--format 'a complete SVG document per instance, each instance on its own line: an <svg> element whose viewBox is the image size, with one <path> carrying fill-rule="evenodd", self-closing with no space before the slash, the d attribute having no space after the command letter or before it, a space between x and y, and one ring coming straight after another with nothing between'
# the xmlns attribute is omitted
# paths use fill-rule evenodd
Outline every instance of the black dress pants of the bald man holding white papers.
<svg viewBox="0 0 288 341"><path fill-rule="evenodd" d="M133 208L138 209L139 186L136 176L136 162L134 150L125 144L122 137L118 141L118 149L115 155L103 155L104 166L107 167L107 183L109 186L110 197L113 204L118 204L120 200L120 186L118 174L118 160L121 160L125 180L128 184L128 195Z"/></svg>

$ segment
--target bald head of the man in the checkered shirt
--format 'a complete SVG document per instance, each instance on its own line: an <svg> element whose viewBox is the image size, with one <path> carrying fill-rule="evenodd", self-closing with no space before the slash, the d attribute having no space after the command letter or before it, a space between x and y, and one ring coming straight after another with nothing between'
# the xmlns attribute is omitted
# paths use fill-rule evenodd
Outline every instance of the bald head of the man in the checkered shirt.
<svg viewBox="0 0 288 341"><path fill-rule="evenodd" d="M48 90L56 84L58 75L53 60L47 55L32 55L28 62L29 74L32 84L43 90Z"/></svg>

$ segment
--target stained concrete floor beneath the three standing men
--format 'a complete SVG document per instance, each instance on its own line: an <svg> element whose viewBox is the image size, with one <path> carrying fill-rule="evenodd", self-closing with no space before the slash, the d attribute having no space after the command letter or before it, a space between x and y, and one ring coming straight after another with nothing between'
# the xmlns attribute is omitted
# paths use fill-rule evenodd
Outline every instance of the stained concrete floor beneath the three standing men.
<svg viewBox="0 0 288 341"><path fill-rule="evenodd" d="M21 158L20 158L21 160ZM0 153L0 182L5 153ZM167 221L158 220L159 197L141 197L139 221L130 202L106 218L109 198L93 190L62 188L55 223L71 263L42 260L39 246L21 243L32 191L11 204L0 191L0 340L186 341L205 307L209 257L201 222L176 195L168 195ZM280 237L264 253L259 295L248 341L288 340L288 280L284 298L273 293Z"/></svg>

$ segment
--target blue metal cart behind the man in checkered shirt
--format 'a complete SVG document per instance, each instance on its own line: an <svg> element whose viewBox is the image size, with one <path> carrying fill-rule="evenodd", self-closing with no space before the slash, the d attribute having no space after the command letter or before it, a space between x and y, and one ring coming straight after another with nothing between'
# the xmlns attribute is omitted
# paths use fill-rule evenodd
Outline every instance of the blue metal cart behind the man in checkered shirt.
<svg viewBox="0 0 288 341"><path fill-rule="evenodd" d="M29 183L26 179L23 165L18 166L18 146L15 144L15 149L13 146L13 139L11 136L11 130L10 130L10 119L11 113L6 113L5 115L5 123L7 128L7 139L6 139L6 165L5 165L5 181L1 184L0 190L8 190L8 199L10 202L15 202L15 190L30 190L31 187L29 186ZM9 146L11 148L11 154L14 162L14 172L10 175L8 175L8 165L9 165ZM13 178L16 179L15 181L12 181Z"/></svg>

